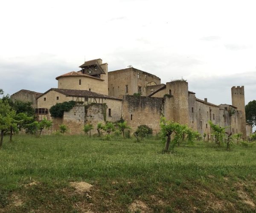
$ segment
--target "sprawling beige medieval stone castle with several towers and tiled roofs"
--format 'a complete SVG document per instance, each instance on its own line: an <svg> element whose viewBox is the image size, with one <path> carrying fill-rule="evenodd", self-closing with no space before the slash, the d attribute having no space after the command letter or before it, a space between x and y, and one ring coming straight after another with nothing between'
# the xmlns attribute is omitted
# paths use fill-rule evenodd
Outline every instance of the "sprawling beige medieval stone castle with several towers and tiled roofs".
<svg viewBox="0 0 256 213"><path fill-rule="evenodd" d="M43 117L52 119L49 109L53 105L77 102L70 112L64 112L63 118L53 119L53 131L59 124L67 124L70 133L77 134L84 124L96 127L98 122L123 118L132 131L145 124L159 132L160 116L164 115L207 135L207 139L212 133L209 121L227 127L227 132L241 132L244 137L252 132L245 122L244 86L232 87L232 105L215 105L207 98L196 98L184 80L163 84L157 76L133 67L108 72L108 64L101 59L86 61L79 68L77 72L58 76L58 88L51 88L37 98L39 121Z"/></svg>

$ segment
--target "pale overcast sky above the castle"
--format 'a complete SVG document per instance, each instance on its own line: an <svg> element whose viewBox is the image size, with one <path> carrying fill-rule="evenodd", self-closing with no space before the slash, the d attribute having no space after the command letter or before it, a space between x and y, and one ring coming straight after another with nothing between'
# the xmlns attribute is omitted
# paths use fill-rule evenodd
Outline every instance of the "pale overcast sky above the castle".
<svg viewBox="0 0 256 213"><path fill-rule="evenodd" d="M0 1L0 88L45 92L55 77L102 58L109 71L132 65L186 79L214 104L231 87L256 99L254 0Z"/></svg>

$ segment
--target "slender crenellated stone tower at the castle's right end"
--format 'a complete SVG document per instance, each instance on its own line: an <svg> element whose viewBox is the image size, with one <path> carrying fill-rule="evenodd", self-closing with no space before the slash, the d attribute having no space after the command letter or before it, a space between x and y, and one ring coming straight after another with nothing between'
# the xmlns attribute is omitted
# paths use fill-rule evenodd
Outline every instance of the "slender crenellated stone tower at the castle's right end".
<svg viewBox="0 0 256 213"><path fill-rule="evenodd" d="M246 121L245 121L245 103L244 103L244 86L233 86L231 88L232 105L237 107L240 112L241 133L246 137Z"/></svg>

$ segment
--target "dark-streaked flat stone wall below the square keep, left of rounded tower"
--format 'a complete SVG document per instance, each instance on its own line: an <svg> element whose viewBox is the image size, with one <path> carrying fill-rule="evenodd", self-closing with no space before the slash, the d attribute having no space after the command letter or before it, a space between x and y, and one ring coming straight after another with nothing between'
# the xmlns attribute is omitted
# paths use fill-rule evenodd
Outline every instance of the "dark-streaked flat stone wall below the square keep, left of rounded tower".
<svg viewBox="0 0 256 213"><path fill-rule="evenodd" d="M140 125L147 125L153 129L153 132L159 132L162 111L163 98L136 97L133 95L124 95L123 97L122 115L132 128L132 132Z"/></svg>

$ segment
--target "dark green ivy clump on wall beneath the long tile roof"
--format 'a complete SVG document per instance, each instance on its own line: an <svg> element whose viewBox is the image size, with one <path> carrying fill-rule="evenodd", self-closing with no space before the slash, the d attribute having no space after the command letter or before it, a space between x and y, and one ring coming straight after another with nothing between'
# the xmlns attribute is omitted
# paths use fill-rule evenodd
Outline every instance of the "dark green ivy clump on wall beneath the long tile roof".
<svg viewBox="0 0 256 213"><path fill-rule="evenodd" d="M64 115L64 112L69 112L70 109L75 107L76 101L65 101L63 103L58 103L52 106L49 109L49 112L51 113L52 117L54 118L62 118Z"/></svg>

